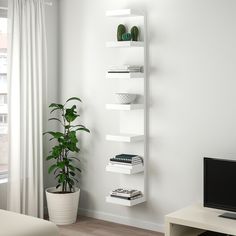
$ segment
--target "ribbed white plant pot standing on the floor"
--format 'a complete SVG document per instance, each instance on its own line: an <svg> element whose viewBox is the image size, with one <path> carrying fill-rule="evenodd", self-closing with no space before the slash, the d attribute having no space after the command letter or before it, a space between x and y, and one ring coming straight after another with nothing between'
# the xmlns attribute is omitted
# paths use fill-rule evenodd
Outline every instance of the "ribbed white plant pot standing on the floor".
<svg viewBox="0 0 236 236"><path fill-rule="evenodd" d="M46 189L49 220L57 225L68 225L76 222L80 189L73 193L56 193L55 187Z"/></svg>

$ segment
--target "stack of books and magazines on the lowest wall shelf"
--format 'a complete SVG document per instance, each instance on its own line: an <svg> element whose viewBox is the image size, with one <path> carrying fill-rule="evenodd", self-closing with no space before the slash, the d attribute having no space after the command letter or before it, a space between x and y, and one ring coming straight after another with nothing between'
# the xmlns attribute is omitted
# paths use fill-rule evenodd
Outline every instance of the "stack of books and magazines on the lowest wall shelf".
<svg viewBox="0 0 236 236"><path fill-rule="evenodd" d="M135 189L118 188L110 192L110 196L114 198L122 198L125 200L134 200L142 197L142 192Z"/></svg>

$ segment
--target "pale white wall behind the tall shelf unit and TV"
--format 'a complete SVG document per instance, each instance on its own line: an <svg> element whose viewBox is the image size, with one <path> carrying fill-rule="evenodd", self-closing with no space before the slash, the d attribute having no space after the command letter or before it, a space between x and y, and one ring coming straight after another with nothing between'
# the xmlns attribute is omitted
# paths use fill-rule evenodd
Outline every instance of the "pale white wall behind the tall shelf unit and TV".
<svg viewBox="0 0 236 236"><path fill-rule="evenodd" d="M105 203L118 177L104 171L115 126L104 109L105 11L139 8L148 15L148 201L126 208ZM83 139L83 213L162 230L164 215L202 200L202 157L236 153L236 1L61 0L61 100L80 96L91 135Z"/></svg>

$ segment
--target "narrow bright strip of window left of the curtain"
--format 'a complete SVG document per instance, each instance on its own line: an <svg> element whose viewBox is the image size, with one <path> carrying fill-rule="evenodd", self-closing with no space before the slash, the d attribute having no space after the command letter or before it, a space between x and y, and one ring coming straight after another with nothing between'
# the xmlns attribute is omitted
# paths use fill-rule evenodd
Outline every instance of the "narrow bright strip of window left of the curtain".
<svg viewBox="0 0 236 236"><path fill-rule="evenodd" d="M8 170L7 18L0 15L0 179Z"/></svg>

